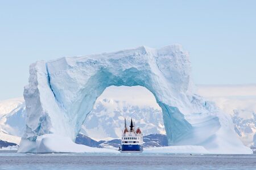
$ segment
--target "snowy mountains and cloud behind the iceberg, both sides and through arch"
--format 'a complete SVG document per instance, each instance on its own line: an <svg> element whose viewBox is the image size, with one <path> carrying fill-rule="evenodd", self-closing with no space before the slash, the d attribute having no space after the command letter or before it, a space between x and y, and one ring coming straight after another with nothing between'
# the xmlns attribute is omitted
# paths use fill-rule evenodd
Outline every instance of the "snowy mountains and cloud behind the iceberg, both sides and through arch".
<svg viewBox="0 0 256 170"><path fill-rule="evenodd" d="M246 146L252 146L256 144L256 97L253 94L256 90L254 91L252 86L246 87L199 86L198 88L201 95L214 101L218 107L232 116L238 137ZM232 91L229 91L230 89ZM23 135L25 114L23 98L0 101L0 139L19 144ZM162 111L156 104L154 96L145 88L138 87L108 88L97 99L80 133L97 141L118 138L125 117L128 120L133 117L135 124L143 130L144 135L165 134Z"/></svg>

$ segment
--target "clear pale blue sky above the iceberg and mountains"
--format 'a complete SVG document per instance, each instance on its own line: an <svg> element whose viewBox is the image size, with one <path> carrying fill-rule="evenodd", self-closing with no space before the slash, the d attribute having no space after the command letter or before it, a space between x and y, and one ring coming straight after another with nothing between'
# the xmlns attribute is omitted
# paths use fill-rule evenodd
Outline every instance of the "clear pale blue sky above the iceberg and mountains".
<svg viewBox="0 0 256 170"><path fill-rule="evenodd" d="M181 44L196 84L256 83L256 1L0 1L0 100L38 60Z"/></svg>

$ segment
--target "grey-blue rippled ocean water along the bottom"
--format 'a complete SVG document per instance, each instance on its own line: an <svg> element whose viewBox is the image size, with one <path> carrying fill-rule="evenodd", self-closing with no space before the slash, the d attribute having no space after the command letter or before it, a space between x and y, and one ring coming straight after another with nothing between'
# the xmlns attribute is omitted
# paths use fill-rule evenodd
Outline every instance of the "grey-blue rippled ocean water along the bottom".
<svg viewBox="0 0 256 170"><path fill-rule="evenodd" d="M0 152L0 169L256 169L256 154L17 154Z"/></svg>

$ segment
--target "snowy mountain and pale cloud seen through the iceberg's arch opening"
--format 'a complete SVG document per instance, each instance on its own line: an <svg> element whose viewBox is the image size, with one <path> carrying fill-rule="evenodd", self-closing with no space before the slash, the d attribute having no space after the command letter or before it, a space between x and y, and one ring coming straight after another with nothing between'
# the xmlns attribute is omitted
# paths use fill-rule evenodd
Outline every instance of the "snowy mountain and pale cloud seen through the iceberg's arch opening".
<svg viewBox="0 0 256 170"><path fill-rule="evenodd" d="M110 86L97 98L80 133L97 141L121 137L124 118L133 118L144 135L166 134L154 95L142 86Z"/></svg>

